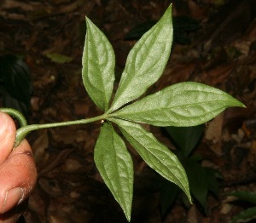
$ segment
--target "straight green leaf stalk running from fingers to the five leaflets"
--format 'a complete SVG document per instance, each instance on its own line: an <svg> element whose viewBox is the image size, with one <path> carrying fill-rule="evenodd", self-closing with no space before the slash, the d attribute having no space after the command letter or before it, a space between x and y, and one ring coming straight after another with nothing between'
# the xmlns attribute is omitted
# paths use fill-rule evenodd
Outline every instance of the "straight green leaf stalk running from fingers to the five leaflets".
<svg viewBox="0 0 256 223"><path fill-rule="evenodd" d="M108 117L108 115L103 114L101 116L97 117L90 117L85 118L81 120L75 120L75 121L67 121L63 123L45 123L45 124L31 124L21 127L16 132L16 139L15 139L15 147L19 146L20 142L25 139L26 134L29 134L30 132L38 129L46 129L46 128L55 128L55 127L61 127L61 126L67 126L67 125L73 125L73 124L86 124L86 123L92 123L99 120L104 120Z"/></svg>

